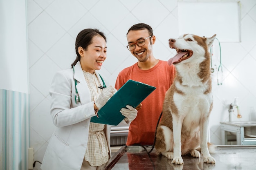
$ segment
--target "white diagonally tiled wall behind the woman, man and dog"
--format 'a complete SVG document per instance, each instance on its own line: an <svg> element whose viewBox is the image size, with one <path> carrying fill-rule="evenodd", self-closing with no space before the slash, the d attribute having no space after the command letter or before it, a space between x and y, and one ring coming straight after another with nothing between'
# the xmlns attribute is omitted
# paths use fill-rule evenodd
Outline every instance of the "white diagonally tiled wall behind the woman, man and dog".
<svg viewBox="0 0 256 170"><path fill-rule="evenodd" d="M211 142L217 145L219 122L228 120L228 107L234 97L238 97L243 118L238 120L235 111L232 119L256 121L256 1L240 2L242 42L221 43L222 85L217 85L217 72L213 73L210 134ZM74 42L79 31L98 28L106 33L108 59L100 73L112 85L119 71L137 61L125 47L126 33L133 24L152 26L157 38L156 58L167 60L176 53L168 48L168 39L179 36L177 0L27 0L27 10L30 147L34 147L34 160L42 161L54 131L48 94L52 77L56 71L70 68L76 57ZM185 12L189 15L192 11ZM35 169L39 169L36 165Z"/></svg>

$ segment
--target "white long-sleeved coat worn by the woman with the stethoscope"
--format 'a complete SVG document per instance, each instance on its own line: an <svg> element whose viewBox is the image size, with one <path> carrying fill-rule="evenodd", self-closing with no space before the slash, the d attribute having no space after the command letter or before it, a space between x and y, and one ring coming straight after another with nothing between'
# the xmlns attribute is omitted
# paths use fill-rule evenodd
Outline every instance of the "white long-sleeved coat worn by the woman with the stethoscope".
<svg viewBox="0 0 256 170"><path fill-rule="evenodd" d="M80 170L88 143L90 118L95 116L94 102L85 81L80 62L73 68L54 75L49 93L51 95L51 116L57 127L47 146L42 170ZM101 85L103 82L96 73ZM75 83L80 102L75 102ZM108 82L104 79L106 86ZM45 125L47 126L47 125ZM104 132L110 150L110 125ZM109 153L111 156L111 151Z"/></svg>

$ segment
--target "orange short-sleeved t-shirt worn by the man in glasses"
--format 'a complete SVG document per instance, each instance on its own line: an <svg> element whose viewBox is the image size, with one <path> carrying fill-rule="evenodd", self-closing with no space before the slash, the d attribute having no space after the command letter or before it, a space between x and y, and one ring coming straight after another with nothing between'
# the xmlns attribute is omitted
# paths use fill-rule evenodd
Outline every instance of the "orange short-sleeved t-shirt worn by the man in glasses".
<svg viewBox="0 0 256 170"><path fill-rule="evenodd" d="M141 102L142 108L138 110L137 117L130 122L126 145L153 145L165 93L173 83L175 73L175 67L162 60L149 70L141 70L135 63L119 73L115 84L117 90L129 79L156 87L155 91Z"/></svg>

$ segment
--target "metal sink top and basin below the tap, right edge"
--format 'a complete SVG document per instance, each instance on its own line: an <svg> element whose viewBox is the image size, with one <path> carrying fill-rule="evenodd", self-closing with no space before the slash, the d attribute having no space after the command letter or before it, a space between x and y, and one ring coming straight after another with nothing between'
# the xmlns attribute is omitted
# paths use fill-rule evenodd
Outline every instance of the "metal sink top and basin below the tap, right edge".
<svg viewBox="0 0 256 170"><path fill-rule="evenodd" d="M244 135L247 137L256 137L256 121L226 121L220 122L222 125L229 125L227 127L239 127L244 128ZM231 127L231 128L232 128ZM231 134L236 135L236 133L231 131Z"/></svg>

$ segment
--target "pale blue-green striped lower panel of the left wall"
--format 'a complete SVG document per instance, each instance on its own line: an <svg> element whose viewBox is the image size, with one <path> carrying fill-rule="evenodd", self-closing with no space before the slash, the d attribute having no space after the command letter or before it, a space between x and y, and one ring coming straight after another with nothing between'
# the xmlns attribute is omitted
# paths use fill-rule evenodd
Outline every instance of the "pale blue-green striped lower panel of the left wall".
<svg viewBox="0 0 256 170"><path fill-rule="evenodd" d="M29 95L0 89L0 169L28 170Z"/></svg>

